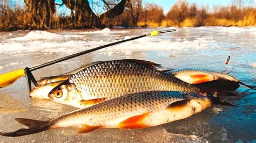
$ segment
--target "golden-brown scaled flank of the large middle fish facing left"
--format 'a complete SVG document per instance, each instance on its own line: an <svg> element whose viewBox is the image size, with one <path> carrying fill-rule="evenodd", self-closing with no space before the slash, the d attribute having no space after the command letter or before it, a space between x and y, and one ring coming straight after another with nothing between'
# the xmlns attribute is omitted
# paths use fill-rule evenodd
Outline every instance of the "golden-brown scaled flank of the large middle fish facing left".
<svg viewBox="0 0 256 143"><path fill-rule="evenodd" d="M171 81L171 82L170 82ZM126 61L96 63L73 75L69 79L87 98L109 98L146 90L199 91L184 87L184 83L160 71ZM161 84L161 85L160 85ZM104 88L100 90L100 88Z"/></svg>

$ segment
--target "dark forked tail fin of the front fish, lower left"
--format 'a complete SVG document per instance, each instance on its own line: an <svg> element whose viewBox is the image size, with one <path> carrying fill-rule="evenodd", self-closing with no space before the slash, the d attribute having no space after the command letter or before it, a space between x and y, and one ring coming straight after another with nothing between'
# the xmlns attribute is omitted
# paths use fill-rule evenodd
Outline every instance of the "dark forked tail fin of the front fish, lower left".
<svg viewBox="0 0 256 143"><path fill-rule="evenodd" d="M2 133L0 135L6 137L18 137L27 134L39 133L50 129L50 121L39 121L32 119L16 118L16 120L22 125L26 125L30 128L21 128L15 132Z"/></svg>

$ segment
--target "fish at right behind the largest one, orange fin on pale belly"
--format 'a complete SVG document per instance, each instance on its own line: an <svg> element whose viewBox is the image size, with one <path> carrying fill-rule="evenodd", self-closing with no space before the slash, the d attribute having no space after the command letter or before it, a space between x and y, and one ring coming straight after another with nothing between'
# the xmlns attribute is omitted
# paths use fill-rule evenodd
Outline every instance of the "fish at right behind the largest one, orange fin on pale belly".
<svg viewBox="0 0 256 143"><path fill-rule="evenodd" d="M167 74L171 74L181 81L190 84L199 84L201 87L218 88L233 91L240 87L239 84L256 90L256 86L242 83L237 78L225 74L224 72L213 71L203 68L180 68L165 70ZM214 81L214 82L212 82Z"/></svg>

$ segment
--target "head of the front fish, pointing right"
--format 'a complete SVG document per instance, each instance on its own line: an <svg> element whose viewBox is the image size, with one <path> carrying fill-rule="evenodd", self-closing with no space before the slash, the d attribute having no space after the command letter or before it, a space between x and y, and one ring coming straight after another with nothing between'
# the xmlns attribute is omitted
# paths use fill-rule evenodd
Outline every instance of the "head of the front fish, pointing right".
<svg viewBox="0 0 256 143"><path fill-rule="evenodd" d="M201 112L211 106L212 102L209 98L210 95L201 95L198 93L189 93L187 94L188 98L190 99L190 103L194 108L194 113Z"/></svg>

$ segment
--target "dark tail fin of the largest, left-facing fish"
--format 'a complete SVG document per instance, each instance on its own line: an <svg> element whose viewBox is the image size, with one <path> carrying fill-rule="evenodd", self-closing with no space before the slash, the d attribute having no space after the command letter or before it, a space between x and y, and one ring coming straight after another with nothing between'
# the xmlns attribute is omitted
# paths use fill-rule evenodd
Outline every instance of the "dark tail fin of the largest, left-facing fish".
<svg viewBox="0 0 256 143"><path fill-rule="evenodd" d="M214 89L214 88L207 88L207 87L203 87L200 88L201 92L206 92L207 94L212 95L213 97L217 97L217 96L237 96L234 93L230 92L230 91L226 91L226 90L221 90L221 89Z"/></svg>

